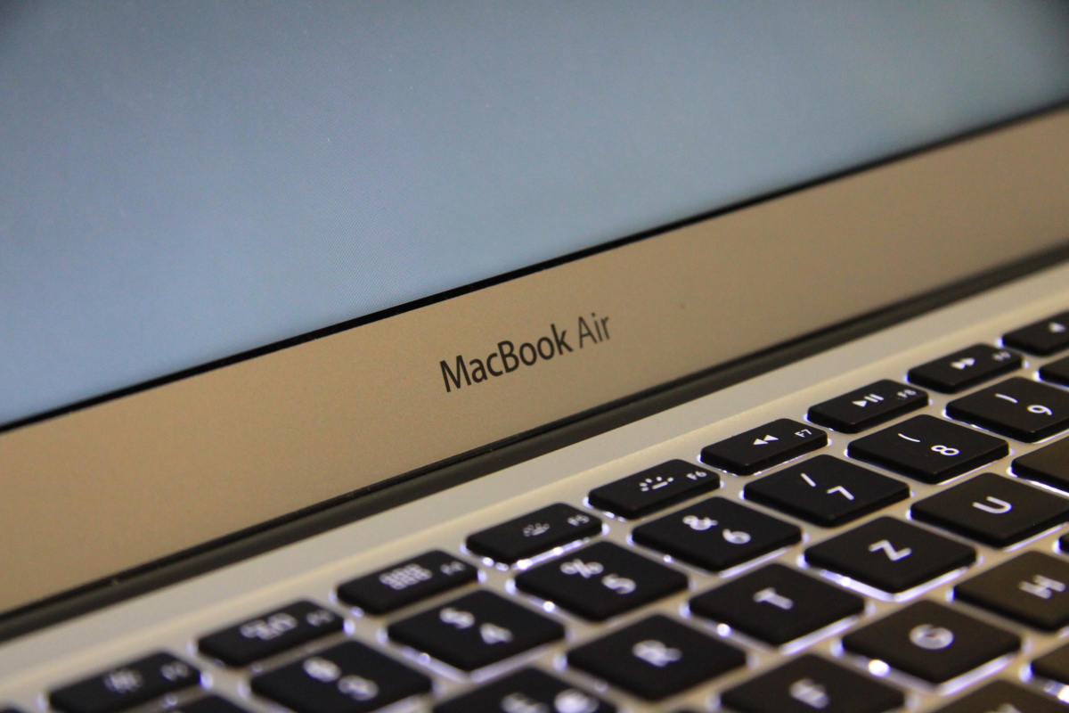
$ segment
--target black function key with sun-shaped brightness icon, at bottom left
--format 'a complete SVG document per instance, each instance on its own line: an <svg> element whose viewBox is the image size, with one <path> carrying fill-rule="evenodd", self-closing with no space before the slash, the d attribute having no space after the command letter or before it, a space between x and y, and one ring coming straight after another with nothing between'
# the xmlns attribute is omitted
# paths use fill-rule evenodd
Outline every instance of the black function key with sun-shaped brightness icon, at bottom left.
<svg viewBox="0 0 1069 713"><path fill-rule="evenodd" d="M199 670L158 652L58 688L48 701L66 713L111 713L198 683Z"/></svg>

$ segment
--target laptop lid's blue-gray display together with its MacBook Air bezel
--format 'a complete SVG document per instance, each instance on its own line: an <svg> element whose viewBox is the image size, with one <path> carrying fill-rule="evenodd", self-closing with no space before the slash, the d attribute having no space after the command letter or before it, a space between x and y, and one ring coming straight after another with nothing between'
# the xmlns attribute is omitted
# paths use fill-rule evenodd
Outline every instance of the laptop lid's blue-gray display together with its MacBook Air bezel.
<svg viewBox="0 0 1069 713"><path fill-rule="evenodd" d="M1066 236L790 282L909 257L794 204L572 260L1064 103L1059 2L7 3L0 96L0 610Z"/></svg>

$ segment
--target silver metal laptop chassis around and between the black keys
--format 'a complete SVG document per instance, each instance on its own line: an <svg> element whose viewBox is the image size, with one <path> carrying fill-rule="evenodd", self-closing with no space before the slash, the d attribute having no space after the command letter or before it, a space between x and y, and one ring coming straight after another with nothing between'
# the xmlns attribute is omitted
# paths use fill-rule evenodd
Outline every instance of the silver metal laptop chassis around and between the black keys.
<svg viewBox="0 0 1069 713"><path fill-rule="evenodd" d="M564 642L537 649L527 655L521 655L474 676L465 676L430 662L415 652L391 644L385 636L388 621L405 617L434 602L454 596L459 592L444 594L389 617L370 617L362 616L361 613L338 602L334 590L341 582L432 547L477 561L478 558L470 556L463 547L464 538L469 532L551 502L564 501L586 507L586 494L595 485L673 458L696 462L698 452L708 444L774 418L790 417L803 420L808 406L817 402L878 378L904 381L907 370L913 366L975 342L996 343L1005 331L1043 319L1067 307L1069 307L1069 266L1062 266L497 474L10 641L0 646L0 677L2 677L0 707L11 703L27 713L47 711L45 692L48 689L149 651L166 649L186 657L204 671L203 687L211 688L254 713L283 710L250 695L248 688L250 671L227 669L200 656L197 653L196 639L204 633L286 604L297 598L311 599L344 611L345 634L322 639L264 662L253 667L253 672L307 655L309 651L330 646L344 636L356 636L390 655L433 671L435 693L438 696L455 695L502 670L533 664L556 671L561 678L578 685L597 689L622 710L635 712L671 711L684 707L699 711L717 710L718 691L773 667L784 661L785 656L802 649L839 657L847 666L858 667L861 670L871 668L882 672L879 664L870 667L867 661L843 654L838 639L845 630L864 625L898 606L895 602L885 601L884 598L868 595L865 614L857 620L848 620L839 626L779 649L747 639L730 632L726 626L717 626L713 622L692 617L686 609L686 601L697 592L737 576L740 571L771 559L804 568L802 552L809 544L833 537L881 514L908 517L912 499L938 492L946 487L947 483L925 485L908 481L914 496L911 500L896 503L867 518L834 529L811 526L771 509L749 503L750 507L777 517L796 522L804 531L803 542L723 574L710 574L680 562L672 562L675 567L688 574L690 591L667 598L631 615L618 617L606 624L585 622L566 611L554 609L549 604L521 594L512 586L514 570L482 563L482 584L479 586L505 593L507 596L517 598L532 607L551 611L549 616L566 622L568 639ZM1028 359L1026 369L1022 373L1034 375L1037 368L1045 361ZM933 394L933 403L925 412L919 413L942 414L947 400L946 397ZM836 433L830 435L828 446L818 452L842 455L850 437ZM1010 455L982 470L1008 474L1013 458L1041 445L1011 441ZM908 480L899 476L894 477ZM950 482L960 482L969 477L970 475L962 476ZM740 498L742 487L754 477L741 478L722 474L722 478L725 484L716 495ZM211 497L211 494L205 493L205 497ZM241 507L241 503L234 503L234 507ZM635 546L629 542L631 528L649 520L623 522L605 517L604 513L600 514L607 523L603 538L628 546ZM657 513L650 518L663 514L663 512ZM927 596L946 600L950 598L952 586L962 577L997 564L1023 548L1056 551L1056 540L1062 529L1047 532L1009 551L992 549L970 542L979 552L979 560L974 567L969 568L967 572L954 573L934 588L913 592L910 599ZM644 552L651 557L661 557L650 551ZM663 559L671 561L667 557ZM886 680L908 692L907 710L938 709L951 700L963 686L977 677L982 677L985 680L1005 678L1026 681L1026 685L1039 689L1045 688L1055 695L1062 692L1060 686L1050 682L1029 680L1028 662L1059 645L1062 639L1069 635L1069 630L1055 635L1039 634L975 607L964 604L956 606L967 609L971 615L979 619L1018 633L1024 641L1023 648L1014 656L1000 660L983 670L941 687L933 687L890 672L886 676ZM747 667L681 696L651 706L564 666L563 653L569 648L646 617L653 610L681 618L713 636L726 636L742 645L749 651ZM196 691L171 697L166 704L181 703L190 696L202 693L203 691ZM425 697L409 699L391 708L429 710L431 706L430 697ZM143 710L153 708L158 709L158 704L142 707Z"/></svg>

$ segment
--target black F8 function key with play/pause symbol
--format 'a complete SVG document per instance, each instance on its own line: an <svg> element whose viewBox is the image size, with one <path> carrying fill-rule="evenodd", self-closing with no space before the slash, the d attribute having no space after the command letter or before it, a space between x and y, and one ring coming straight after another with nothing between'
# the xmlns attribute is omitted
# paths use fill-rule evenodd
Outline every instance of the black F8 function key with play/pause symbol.
<svg viewBox="0 0 1069 713"><path fill-rule="evenodd" d="M809 407L808 418L841 433L861 433L928 405L919 389L884 378Z"/></svg>

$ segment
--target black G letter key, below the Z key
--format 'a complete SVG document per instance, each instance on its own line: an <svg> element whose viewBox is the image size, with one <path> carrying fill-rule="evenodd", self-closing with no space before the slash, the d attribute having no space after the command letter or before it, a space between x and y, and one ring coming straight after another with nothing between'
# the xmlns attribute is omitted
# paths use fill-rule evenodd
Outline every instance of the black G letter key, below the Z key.
<svg viewBox="0 0 1069 713"><path fill-rule="evenodd" d="M842 646L929 683L943 683L1013 653L1021 640L948 606L921 600L847 634Z"/></svg>

